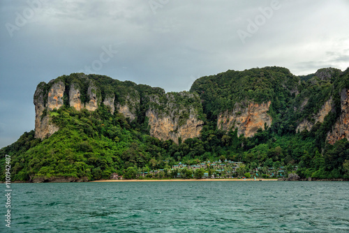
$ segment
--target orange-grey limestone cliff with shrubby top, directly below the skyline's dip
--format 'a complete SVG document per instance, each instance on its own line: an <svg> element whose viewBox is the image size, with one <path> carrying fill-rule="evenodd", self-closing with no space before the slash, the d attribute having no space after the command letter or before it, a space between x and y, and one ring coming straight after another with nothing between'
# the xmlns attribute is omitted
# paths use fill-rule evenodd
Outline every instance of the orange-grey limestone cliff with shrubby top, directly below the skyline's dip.
<svg viewBox="0 0 349 233"><path fill-rule="evenodd" d="M204 123L198 116L200 109L195 108L198 105L186 105L179 100L183 98L200 103L197 95L188 92L166 93L162 98L151 96L151 107L146 112L151 136L177 144L179 137L182 141L199 137Z"/></svg>

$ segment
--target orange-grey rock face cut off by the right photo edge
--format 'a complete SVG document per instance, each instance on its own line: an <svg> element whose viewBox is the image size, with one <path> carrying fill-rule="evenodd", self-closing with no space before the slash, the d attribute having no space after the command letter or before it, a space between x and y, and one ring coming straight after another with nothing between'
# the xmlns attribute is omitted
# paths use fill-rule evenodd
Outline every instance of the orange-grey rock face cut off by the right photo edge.
<svg viewBox="0 0 349 233"><path fill-rule="evenodd" d="M327 141L334 144L346 137L349 140L349 90L341 91L341 116L327 135Z"/></svg>

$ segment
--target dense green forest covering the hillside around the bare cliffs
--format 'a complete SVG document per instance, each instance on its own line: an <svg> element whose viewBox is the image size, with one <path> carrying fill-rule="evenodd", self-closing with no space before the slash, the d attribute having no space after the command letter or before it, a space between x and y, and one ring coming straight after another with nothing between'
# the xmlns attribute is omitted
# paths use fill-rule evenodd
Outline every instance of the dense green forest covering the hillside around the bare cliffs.
<svg viewBox="0 0 349 233"><path fill-rule="evenodd" d="M77 111L65 98L63 107L47 113L59 126L57 133L40 140L34 138L32 130L0 150L1 170L6 164L5 155L11 156L13 181L40 177L97 180L108 179L112 172L131 179L138 172L168 171L179 162L193 165L218 159L244 162L245 171L285 167L287 175L297 166L297 174L304 178L349 179L348 140L343 138L333 145L326 141L327 133L341 114L341 90L349 89L349 69L342 72L325 68L315 74L295 76L286 68L266 67L201 77L190 90L200 96L200 101L192 102L174 93L175 101L182 107L195 103L204 121L200 137L179 140L179 144L149 135L145 112L149 106L161 108L151 103L150 98L158 96L159 103L165 101L163 89L103 75L86 77L94 80L102 99L111 93L122 104L133 103L132 98L140 99L140 105L133 106L137 117L131 121L118 112L111 114L103 103L94 112ZM73 82L81 89L88 87L83 74L64 75L57 80L63 80L67 87ZM45 89L50 89L52 84L45 85ZM81 100L85 103L87 96L83 93ZM315 122L315 114L329 98L334 103L332 111L323 122ZM236 128L228 132L217 128L219 113L251 101L269 100L272 126L260 128L253 137L238 136ZM304 120L315 124L311 130L299 132L297 126ZM269 176L267 169L265 176ZM0 179L4 181L4 173Z"/></svg>

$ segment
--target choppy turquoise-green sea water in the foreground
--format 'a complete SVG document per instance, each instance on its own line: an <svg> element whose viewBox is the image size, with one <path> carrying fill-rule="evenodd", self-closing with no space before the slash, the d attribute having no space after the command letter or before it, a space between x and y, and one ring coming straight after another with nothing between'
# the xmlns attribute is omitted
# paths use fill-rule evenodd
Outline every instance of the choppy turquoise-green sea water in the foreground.
<svg viewBox="0 0 349 233"><path fill-rule="evenodd" d="M11 228L1 204L0 232L349 232L349 182L15 183L12 189Z"/></svg>

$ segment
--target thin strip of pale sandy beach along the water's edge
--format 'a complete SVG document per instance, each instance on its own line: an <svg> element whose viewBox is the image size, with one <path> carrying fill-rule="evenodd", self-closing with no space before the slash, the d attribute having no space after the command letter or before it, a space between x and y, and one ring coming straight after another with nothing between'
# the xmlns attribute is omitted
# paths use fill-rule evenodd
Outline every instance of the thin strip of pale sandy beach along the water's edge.
<svg viewBox="0 0 349 233"><path fill-rule="evenodd" d="M107 179L90 182L278 181L278 179Z"/></svg>

